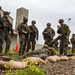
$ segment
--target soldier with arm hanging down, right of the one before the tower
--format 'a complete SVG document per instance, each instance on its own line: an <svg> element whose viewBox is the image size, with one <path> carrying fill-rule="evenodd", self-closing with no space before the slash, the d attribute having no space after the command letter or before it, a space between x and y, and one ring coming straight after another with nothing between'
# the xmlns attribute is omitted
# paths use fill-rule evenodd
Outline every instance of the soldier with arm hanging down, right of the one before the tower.
<svg viewBox="0 0 75 75"><path fill-rule="evenodd" d="M36 24L36 21L35 20L32 20L32 25L29 26L29 29L30 29L30 38L29 38L29 41L28 41L28 49L27 49L27 52L29 49L31 49L32 51L35 50L35 44L36 44L36 40L38 40L38 35L39 35L39 31L37 29L37 27L35 26Z"/></svg>

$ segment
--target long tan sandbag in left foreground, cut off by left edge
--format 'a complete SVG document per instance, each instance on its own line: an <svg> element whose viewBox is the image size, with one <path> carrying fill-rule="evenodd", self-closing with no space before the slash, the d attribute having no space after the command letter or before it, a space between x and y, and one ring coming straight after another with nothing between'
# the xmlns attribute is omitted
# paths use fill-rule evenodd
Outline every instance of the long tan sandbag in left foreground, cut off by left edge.
<svg viewBox="0 0 75 75"><path fill-rule="evenodd" d="M0 68L4 69L23 69L27 67L27 62L20 62L20 61L0 61Z"/></svg>

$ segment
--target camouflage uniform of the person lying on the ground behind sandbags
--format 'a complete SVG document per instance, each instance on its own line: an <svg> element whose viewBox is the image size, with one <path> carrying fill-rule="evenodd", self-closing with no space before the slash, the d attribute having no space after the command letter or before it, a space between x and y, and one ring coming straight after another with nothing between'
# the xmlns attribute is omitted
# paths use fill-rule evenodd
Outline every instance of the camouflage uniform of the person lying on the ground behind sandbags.
<svg viewBox="0 0 75 75"><path fill-rule="evenodd" d="M25 58L26 56L35 56L35 57L40 57L42 59L45 59L50 55L52 54L51 54L51 51L49 51L48 47L43 47L41 49L37 49L35 51L26 53L26 55L24 55L23 58Z"/></svg>

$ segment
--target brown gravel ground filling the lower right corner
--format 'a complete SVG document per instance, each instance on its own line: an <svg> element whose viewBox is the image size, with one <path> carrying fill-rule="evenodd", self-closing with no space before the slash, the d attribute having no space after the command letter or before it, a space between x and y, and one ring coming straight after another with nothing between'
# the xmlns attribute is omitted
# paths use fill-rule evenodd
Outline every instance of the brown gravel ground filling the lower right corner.
<svg viewBox="0 0 75 75"><path fill-rule="evenodd" d="M75 75L75 60L48 62L42 68L47 75Z"/></svg>

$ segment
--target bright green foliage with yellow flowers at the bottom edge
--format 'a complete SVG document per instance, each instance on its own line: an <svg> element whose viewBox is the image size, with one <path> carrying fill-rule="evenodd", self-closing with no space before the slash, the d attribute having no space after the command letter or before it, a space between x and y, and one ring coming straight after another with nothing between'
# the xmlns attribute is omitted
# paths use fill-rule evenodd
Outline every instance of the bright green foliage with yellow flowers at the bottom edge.
<svg viewBox="0 0 75 75"><path fill-rule="evenodd" d="M16 70L15 72L10 70L5 75L45 75L45 73L43 70L33 65L26 69Z"/></svg>

